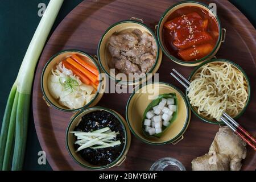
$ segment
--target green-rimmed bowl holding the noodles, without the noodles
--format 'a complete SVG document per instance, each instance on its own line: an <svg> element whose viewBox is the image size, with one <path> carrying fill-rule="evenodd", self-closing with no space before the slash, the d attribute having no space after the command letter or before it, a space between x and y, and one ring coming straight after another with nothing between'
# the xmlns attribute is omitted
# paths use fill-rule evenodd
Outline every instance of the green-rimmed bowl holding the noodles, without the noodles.
<svg viewBox="0 0 256 182"><path fill-rule="evenodd" d="M229 63L231 64L234 68L236 68L238 71L240 71L244 78L245 78L245 81L246 81L246 84L247 84L247 93L248 93L248 98L247 98L247 101L246 101L246 104L245 104L245 107L240 111L240 113L238 113L236 115L236 117L234 117L234 119L237 119L239 118L243 113L244 111L246 110L246 107L248 106L249 102L250 102L250 97L251 97L251 86L250 86L250 81L249 81L249 78L247 77L245 71L243 71L243 69L240 67L240 65L230 61L230 60L226 60L226 59L212 59L212 60L208 60L208 61L205 61L204 63L200 64L199 66L197 66L193 72L191 73L191 75L189 76L188 80L189 82L193 81L193 78L195 76L196 73L200 72L200 69L201 67L203 67L204 65L207 65L209 63L217 63L217 64L223 64L223 63ZM189 101L189 98L188 98L188 91L186 90L186 97L187 97L187 101L188 101L188 104L189 104L189 107L191 108L191 110L193 111L193 113L199 117L200 119L202 119L204 122L207 122L207 123L211 123L211 124L216 124L216 125L222 125L224 124L224 122L218 122L216 119L210 119L210 118L207 118L207 117L203 117L203 115L200 115L197 111L197 107L195 106L192 106L190 104L190 101Z"/></svg>

